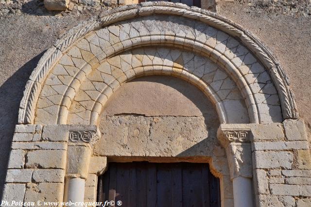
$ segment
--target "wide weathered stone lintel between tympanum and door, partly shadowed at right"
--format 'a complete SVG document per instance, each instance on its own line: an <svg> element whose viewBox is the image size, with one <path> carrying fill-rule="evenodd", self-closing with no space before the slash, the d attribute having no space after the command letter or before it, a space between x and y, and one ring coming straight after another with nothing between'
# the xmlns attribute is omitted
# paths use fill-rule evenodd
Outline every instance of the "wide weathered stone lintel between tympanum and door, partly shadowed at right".
<svg viewBox="0 0 311 207"><path fill-rule="evenodd" d="M106 116L102 118L102 138L95 144L94 153L101 156L212 156L213 146L218 144L217 127L213 116Z"/></svg>

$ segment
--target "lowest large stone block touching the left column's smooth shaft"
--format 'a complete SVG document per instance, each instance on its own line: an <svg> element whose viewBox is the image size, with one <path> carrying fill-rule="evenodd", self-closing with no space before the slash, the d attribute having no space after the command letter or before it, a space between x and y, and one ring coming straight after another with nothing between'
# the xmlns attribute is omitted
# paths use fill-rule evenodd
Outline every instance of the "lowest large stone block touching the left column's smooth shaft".
<svg viewBox="0 0 311 207"><path fill-rule="evenodd" d="M34 201L62 202L63 192L64 192L63 183L27 184L24 202L34 202Z"/></svg>

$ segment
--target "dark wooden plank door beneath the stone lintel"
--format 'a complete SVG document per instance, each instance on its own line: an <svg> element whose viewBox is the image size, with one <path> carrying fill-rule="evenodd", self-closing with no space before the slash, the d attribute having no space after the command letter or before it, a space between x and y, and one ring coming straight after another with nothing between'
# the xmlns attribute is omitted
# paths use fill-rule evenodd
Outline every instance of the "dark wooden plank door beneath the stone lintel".
<svg viewBox="0 0 311 207"><path fill-rule="evenodd" d="M207 163L110 162L98 184L99 202L122 207L221 206L219 179Z"/></svg>

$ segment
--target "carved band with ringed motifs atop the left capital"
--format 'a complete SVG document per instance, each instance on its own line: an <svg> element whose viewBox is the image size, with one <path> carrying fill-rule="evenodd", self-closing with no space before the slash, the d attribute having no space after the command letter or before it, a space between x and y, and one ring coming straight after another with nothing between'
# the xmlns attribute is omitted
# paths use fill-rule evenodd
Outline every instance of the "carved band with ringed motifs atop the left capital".
<svg viewBox="0 0 311 207"><path fill-rule="evenodd" d="M94 144L99 140L96 130L74 129L69 130L69 141L73 143L84 142Z"/></svg>

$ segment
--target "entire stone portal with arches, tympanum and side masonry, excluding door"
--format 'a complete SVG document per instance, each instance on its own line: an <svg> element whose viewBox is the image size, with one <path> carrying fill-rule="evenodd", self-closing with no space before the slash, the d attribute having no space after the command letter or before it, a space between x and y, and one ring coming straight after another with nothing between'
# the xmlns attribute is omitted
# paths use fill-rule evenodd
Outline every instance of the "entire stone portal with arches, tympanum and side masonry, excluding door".
<svg viewBox="0 0 311 207"><path fill-rule="evenodd" d="M209 164L223 207L310 206L310 136L282 66L197 7L143 2L90 18L26 83L2 200L96 202L109 162L186 161Z"/></svg>

